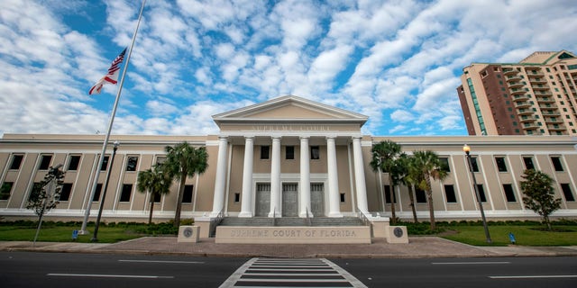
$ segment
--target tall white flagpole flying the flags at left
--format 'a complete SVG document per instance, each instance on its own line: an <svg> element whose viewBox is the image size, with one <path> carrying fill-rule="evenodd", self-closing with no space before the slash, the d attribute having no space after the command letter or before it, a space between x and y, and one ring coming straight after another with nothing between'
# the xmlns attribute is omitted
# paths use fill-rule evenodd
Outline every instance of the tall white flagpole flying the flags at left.
<svg viewBox="0 0 577 288"><path fill-rule="evenodd" d="M106 130L105 141L102 144L102 152L100 153L100 159L98 160L98 166L96 166L96 175L94 177L94 183L92 184L92 190L90 192L90 197L88 197L88 199L87 199L87 204L86 204L87 208L86 208L86 211L84 213L84 220L82 221L82 228L78 231L78 234L81 234L81 235L89 234L89 232L87 231L87 222L88 222L88 217L90 216L90 208L92 206L92 199L94 199L94 195L96 194L96 186L98 185L98 175L100 174L100 169L101 169L102 164L104 163L104 160L105 160L106 146L108 145L108 139L110 139L110 131L112 130L112 125L114 123L114 115L116 114L116 108L118 107L118 103L120 100L120 94L123 91L124 76L126 76L126 69L128 68L128 62L130 62L130 56L131 56L131 54L133 54L134 40L136 40L136 33L138 32L138 27L141 25L142 12L144 11L144 4L145 3L146 3L146 0L142 0L141 13L138 15L138 22L136 23L136 29L134 30L133 41L130 44L130 49L128 50L128 56L126 57L126 63L124 64L123 76L121 76L121 78L120 78L120 84L118 85L118 91L116 92L116 99L114 100L114 108L112 109L112 112L110 114L110 121L108 123L108 130ZM112 169L112 167L108 167L108 169Z"/></svg>

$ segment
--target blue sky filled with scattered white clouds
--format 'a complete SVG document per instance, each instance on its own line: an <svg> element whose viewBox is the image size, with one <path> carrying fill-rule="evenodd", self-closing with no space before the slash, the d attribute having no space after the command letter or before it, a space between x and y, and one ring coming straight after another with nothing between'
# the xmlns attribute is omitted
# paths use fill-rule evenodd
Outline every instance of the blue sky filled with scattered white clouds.
<svg viewBox="0 0 577 288"><path fill-rule="evenodd" d="M0 135L105 133L88 89L130 45L140 1L0 1ZM577 52L574 0L148 0L113 134L206 135L211 115L294 94L372 135L465 135L472 62Z"/></svg>

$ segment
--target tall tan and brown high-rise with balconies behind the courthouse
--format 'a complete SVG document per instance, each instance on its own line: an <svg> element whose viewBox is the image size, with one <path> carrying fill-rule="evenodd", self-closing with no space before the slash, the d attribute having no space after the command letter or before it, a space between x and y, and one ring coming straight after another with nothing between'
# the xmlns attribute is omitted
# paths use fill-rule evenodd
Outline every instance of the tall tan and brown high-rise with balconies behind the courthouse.
<svg viewBox="0 0 577 288"><path fill-rule="evenodd" d="M577 56L472 63L457 88L469 135L577 135Z"/></svg>

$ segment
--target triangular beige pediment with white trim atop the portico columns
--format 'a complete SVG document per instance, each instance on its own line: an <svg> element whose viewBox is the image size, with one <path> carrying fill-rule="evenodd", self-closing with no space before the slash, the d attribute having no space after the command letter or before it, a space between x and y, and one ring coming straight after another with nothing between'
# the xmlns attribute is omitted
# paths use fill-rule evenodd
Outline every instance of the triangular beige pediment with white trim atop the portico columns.
<svg viewBox="0 0 577 288"><path fill-rule="evenodd" d="M368 117L334 106L288 95L229 112L213 115L216 124L230 121L351 121L362 122Z"/></svg>

